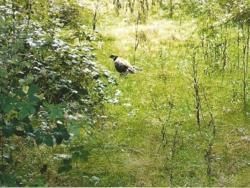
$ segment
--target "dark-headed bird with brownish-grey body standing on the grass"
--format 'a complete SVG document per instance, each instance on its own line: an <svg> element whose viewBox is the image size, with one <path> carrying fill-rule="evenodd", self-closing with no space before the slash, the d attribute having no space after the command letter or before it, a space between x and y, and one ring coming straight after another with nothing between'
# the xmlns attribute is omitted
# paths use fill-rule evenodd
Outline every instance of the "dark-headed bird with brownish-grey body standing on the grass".
<svg viewBox="0 0 250 188"><path fill-rule="evenodd" d="M115 69L121 74L135 73L136 68L129 64L128 61L118 57L117 55L111 55L111 59L113 59L115 64Z"/></svg>

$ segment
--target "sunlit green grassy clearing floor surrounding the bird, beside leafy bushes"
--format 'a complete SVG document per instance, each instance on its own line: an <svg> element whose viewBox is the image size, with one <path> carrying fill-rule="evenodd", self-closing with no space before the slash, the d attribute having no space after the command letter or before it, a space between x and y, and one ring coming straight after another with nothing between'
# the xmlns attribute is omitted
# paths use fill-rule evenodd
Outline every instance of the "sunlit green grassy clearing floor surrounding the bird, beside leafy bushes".
<svg viewBox="0 0 250 188"><path fill-rule="evenodd" d="M249 132L249 119L239 112L237 101L229 101L231 80L218 73L204 75L209 69L203 63L198 75L206 100L198 129L190 63L190 43L198 41L196 27L195 21L160 19L136 26L117 18L100 27L104 42L98 44L97 60L118 82L110 89L114 98L105 106L106 119L96 133L109 162L97 151L87 165L95 164L100 168L93 173L105 174L101 185L200 186L214 181L220 186L249 185L249 135L240 133ZM135 52L136 35L139 46ZM143 71L120 76L109 59L111 54ZM228 77L232 77L230 72L224 74ZM216 121L215 137L209 126L210 112ZM214 159L210 164L206 154L211 140ZM209 177L208 168L213 171Z"/></svg>

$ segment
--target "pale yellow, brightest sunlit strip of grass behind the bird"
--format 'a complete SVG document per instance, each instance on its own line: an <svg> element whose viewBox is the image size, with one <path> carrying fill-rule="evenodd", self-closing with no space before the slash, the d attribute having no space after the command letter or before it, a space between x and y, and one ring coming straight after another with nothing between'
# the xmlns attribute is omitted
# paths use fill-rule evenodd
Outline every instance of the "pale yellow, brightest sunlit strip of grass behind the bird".
<svg viewBox="0 0 250 188"><path fill-rule="evenodd" d="M176 21L159 20L138 25L111 25L103 30L104 35L116 38L115 46L119 46L120 51L128 52L134 46L135 33L146 43L147 47L160 45L163 42L183 42L190 37L195 37L195 22L185 22L181 25ZM142 42L142 45L143 45ZM157 50L153 48L152 50Z"/></svg>

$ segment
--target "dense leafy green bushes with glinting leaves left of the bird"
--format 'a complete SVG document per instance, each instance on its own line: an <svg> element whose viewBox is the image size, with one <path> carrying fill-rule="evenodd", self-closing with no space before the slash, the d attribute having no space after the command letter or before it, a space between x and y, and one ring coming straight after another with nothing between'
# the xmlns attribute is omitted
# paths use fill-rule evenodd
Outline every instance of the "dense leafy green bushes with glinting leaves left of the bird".
<svg viewBox="0 0 250 188"><path fill-rule="evenodd" d="M47 12L35 14L38 6L47 7ZM7 0L1 2L0 12L2 152L9 153L7 139L14 141L14 135L52 147L70 139L71 122L93 125L111 77L95 62L96 34L80 27L79 6ZM66 27L81 28L80 43L60 37ZM58 172L70 169L71 160L63 159ZM17 185L5 177L8 172L1 171L1 185Z"/></svg>

